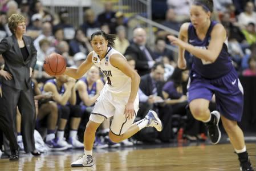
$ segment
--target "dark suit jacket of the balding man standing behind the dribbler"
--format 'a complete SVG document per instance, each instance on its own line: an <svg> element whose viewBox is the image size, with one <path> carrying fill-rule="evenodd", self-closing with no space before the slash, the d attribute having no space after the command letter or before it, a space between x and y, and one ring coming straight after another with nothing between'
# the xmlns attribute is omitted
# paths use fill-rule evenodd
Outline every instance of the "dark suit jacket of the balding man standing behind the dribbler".
<svg viewBox="0 0 256 171"><path fill-rule="evenodd" d="M155 59L155 55L151 51L149 47L147 47L147 50L149 54L151 54L153 60ZM140 50L140 46L132 43L130 44L127 49L125 50L125 55L132 55L133 58L135 58L135 69L138 71L138 74L140 76L148 74L151 71L151 68L148 66L148 59L147 56L145 56L144 52Z"/></svg>

